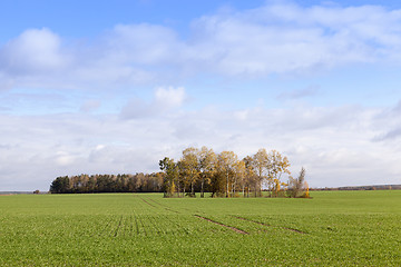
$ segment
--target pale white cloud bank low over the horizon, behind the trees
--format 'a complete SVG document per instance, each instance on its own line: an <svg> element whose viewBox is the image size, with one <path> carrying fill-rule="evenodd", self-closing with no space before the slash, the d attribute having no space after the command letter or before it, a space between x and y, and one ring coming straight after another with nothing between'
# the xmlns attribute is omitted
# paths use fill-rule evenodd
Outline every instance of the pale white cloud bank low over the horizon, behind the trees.
<svg viewBox="0 0 401 267"><path fill-rule="evenodd" d="M306 168L313 187L400 184L401 145L397 139L372 140L398 120L380 117L383 112L304 106L205 108L135 120L1 115L0 174L7 179L0 179L0 188L43 190L57 176L81 172L157 171L163 157L178 158L187 146L204 145L239 157L262 147L277 149L288 156L294 174Z"/></svg>

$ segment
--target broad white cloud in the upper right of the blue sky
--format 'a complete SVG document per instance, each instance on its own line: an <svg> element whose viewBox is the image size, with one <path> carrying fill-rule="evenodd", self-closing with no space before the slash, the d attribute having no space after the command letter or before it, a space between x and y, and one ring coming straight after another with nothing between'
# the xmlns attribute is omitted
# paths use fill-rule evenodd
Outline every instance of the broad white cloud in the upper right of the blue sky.
<svg viewBox="0 0 401 267"><path fill-rule="evenodd" d="M381 7L267 4L196 20L194 32L202 33L190 48L194 57L211 60L207 67L226 75L307 71L393 60L400 24L401 12Z"/></svg>

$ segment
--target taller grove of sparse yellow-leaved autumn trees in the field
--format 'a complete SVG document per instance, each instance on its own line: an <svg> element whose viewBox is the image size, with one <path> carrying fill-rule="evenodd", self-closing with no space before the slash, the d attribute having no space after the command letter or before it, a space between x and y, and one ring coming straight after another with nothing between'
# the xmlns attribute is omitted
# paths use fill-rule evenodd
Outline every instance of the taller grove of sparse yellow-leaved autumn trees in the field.
<svg viewBox="0 0 401 267"><path fill-rule="evenodd" d="M175 161L165 157L159 161L164 171L165 197L195 196L209 191L212 197L262 196L266 189L270 197L309 197L305 170L300 177L291 177L287 157L278 151L260 149L255 155L238 159L233 151L215 154L207 147L186 148L183 157ZM283 176L287 175L287 182ZM305 192L306 189L306 192Z"/></svg>

